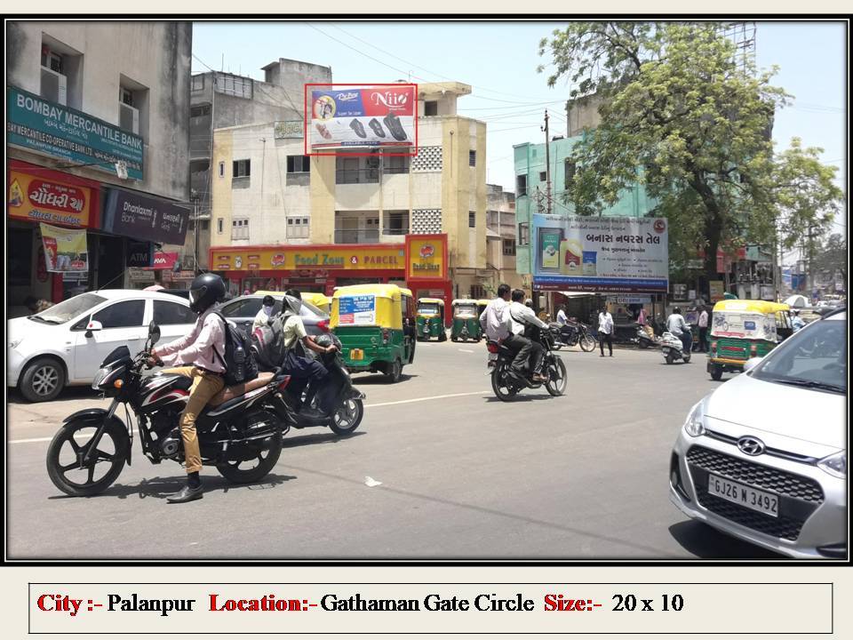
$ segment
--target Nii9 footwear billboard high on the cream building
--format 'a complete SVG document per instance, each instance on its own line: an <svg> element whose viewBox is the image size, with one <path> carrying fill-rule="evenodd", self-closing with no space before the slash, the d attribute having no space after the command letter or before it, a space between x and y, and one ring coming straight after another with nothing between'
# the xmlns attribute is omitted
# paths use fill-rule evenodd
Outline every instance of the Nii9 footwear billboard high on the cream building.
<svg viewBox="0 0 853 640"><path fill-rule="evenodd" d="M306 84L306 153L417 148L417 84Z"/></svg>

